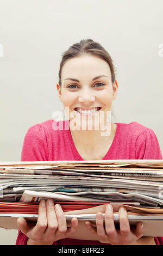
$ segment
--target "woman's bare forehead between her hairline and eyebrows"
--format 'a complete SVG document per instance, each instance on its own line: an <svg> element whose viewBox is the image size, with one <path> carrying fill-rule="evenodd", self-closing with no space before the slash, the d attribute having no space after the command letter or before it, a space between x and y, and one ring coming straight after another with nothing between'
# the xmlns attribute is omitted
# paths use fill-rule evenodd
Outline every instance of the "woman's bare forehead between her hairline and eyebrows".
<svg viewBox="0 0 163 256"><path fill-rule="evenodd" d="M95 77L106 75L111 77L109 64L95 56L82 56L68 59L62 66L61 78Z"/></svg>

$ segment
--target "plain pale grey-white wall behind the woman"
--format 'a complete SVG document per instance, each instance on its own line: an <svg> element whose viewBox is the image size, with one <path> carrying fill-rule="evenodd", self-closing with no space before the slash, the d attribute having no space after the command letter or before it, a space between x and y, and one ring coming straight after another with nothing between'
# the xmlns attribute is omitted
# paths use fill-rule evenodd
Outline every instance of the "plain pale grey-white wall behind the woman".
<svg viewBox="0 0 163 256"><path fill-rule="evenodd" d="M153 129L163 152L162 8L162 0L0 0L0 161L20 161L28 128L62 111L61 54L87 38L114 60L114 121ZM0 244L14 245L16 236L0 229Z"/></svg>

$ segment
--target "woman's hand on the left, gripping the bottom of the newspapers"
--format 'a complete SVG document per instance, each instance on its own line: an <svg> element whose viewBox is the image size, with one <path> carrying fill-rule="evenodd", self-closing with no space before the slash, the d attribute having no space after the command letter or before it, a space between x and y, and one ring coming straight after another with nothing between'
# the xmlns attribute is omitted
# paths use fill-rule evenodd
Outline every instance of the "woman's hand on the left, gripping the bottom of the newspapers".
<svg viewBox="0 0 163 256"><path fill-rule="evenodd" d="M67 228L65 214L59 204L54 206L53 199L39 204L37 223L17 219L18 228L29 237L28 245L52 245L54 241L64 239L73 234L78 227L78 219L72 218L71 227Z"/></svg>

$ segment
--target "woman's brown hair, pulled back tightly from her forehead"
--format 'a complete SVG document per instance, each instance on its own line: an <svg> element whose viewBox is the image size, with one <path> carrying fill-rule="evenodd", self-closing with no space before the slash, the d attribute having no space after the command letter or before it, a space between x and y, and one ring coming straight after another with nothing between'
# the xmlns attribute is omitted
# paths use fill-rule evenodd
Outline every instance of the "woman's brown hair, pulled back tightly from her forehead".
<svg viewBox="0 0 163 256"><path fill-rule="evenodd" d="M60 69L59 69L59 82L58 82L60 87L61 87L62 66L65 64L66 60L74 57L80 57L86 54L89 54L91 56L96 56L105 60L105 62L108 63L111 70L111 81L112 83L115 82L116 70L109 53L98 42L95 42L92 39L86 39L86 40L83 39L80 42L77 42L77 44L73 44L72 46L70 46L70 48L68 48L66 52L62 53L62 60L61 60Z"/></svg>

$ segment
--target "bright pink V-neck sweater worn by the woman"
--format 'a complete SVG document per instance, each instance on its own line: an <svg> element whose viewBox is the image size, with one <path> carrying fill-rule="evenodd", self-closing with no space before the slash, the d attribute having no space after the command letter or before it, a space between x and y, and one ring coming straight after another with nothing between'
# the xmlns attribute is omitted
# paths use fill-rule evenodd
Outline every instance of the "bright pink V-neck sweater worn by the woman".
<svg viewBox="0 0 163 256"><path fill-rule="evenodd" d="M162 159L158 139L152 129L139 123L116 123L117 129L108 153L102 160ZM64 125L65 129L53 128ZM78 153L69 129L69 120L47 120L30 127L24 138L21 161L84 160ZM16 245L27 245L28 237L18 230ZM163 245L163 237L155 237ZM61 239L53 245L107 245L99 241ZM108 244L109 245L109 244Z"/></svg>

